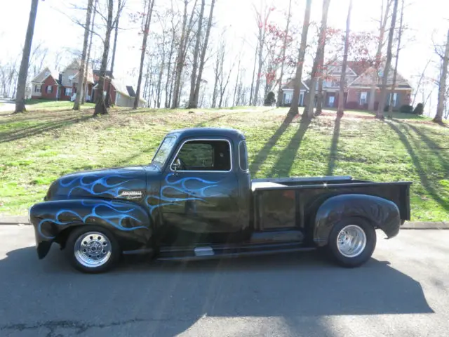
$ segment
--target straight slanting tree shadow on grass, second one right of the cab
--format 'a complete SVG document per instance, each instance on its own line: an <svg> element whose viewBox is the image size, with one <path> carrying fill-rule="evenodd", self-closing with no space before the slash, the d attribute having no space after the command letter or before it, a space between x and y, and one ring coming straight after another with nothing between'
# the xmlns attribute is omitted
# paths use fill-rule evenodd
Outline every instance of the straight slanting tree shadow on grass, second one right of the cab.
<svg viewBox="0 0 449 337"><path fill-rule="evenodd" d="M304 138L310 123L311 119L301 119L300 127L291 138L290 143L288 143L288 145L282 150L281 154L279 154L278 161L276 161L276 164L274 164L272 171L270 172L270 177L275 174L279 177L286 177L290 174L290 170L295 162L295 156L298 150L300 150L302 139Z"/></svg>

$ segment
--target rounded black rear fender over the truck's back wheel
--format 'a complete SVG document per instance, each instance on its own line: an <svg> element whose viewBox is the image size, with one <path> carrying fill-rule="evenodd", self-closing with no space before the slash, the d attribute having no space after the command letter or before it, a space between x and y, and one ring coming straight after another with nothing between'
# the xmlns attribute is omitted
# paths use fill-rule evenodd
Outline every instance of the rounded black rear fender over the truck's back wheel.
<svg viewBox="0 0 449 337"><path fill-rule="evenodd" d="M337 195L324 201L316 213L315 244L328 244L333 225L351 217L368 220L375 228L383 230L389 238L398 234L401 225L398 206L392 201L366 194Z"/></svg>

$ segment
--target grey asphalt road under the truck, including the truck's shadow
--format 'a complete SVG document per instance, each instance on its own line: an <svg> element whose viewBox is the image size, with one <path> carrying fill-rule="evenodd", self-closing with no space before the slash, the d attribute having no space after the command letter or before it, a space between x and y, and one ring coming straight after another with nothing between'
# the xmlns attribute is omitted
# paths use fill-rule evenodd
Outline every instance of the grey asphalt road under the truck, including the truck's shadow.
<svg viewBox="0 0 449 337"><path fill-rule="evenodd" d="M298 253L83 275L0 226L0 336L448 336L449 230L377 237L354 270Z"/></svg>

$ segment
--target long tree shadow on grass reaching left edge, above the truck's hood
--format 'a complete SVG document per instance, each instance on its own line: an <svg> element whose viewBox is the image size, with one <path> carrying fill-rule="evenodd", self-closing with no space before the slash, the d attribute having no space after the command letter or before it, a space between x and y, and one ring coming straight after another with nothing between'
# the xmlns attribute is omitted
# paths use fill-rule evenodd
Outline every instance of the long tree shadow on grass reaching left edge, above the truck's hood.
<svg viewBox="0 0 449 337"><path fill-rule="evenodd" d="M87 121L93 118L93 116L83 117L69 117L67 119L61 119L59 121L53 121L49 123L41 123L34 126L15 129L13 131L6 131L0 133L0 143L8 143L13 140L19 140L22 138L28 138L39 135L39 133L55 130L72 124L80 123L81 121Z"/></svg>

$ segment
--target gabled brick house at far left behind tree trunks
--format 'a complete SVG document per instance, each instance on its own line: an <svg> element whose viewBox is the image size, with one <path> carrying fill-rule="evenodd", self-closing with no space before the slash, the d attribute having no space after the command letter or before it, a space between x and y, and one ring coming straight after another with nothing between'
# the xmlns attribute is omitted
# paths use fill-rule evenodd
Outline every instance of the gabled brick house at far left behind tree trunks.
<svg viewBox="0 0 449 337"><path fill-rule="evenodd" d="M48 67L32 79L32 98L47 100L74 100L79 82L79 61L74 60L65 70L56 75ZM86 101L92 99L93 72L88 69Z"/></svg>

